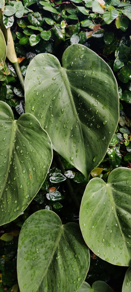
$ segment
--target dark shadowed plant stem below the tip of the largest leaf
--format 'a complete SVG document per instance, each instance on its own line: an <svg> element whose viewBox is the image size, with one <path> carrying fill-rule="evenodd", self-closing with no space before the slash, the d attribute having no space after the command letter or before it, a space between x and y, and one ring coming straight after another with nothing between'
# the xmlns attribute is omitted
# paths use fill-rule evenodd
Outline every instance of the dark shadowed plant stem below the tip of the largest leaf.
<svg viewBox="0 0 131 292"><path fill-rule="evenodd" d="M55 160L56 160L56 163L57 163L58 167L59 167L60 170L61 170L61 173L64 175L64 173L65 173L65 169L64 169L64 166L63 166L62 161L61 161L61 159L60 159L60 155L59 155L56 151L54 151L54 157L55 157ZM72 188L72 185L71 185L70 180L67 178L67 179L65 180L65 183L66 183L66 185L67 185L68 192L69 192L69 194L70 194L70 196L71 196L71 199L74 201L76 207L77 207L78 209L80 209L80 203L79 203L79 201L78 201L76 195L74 194L74 191L73 191L73 188Z"/></svg>

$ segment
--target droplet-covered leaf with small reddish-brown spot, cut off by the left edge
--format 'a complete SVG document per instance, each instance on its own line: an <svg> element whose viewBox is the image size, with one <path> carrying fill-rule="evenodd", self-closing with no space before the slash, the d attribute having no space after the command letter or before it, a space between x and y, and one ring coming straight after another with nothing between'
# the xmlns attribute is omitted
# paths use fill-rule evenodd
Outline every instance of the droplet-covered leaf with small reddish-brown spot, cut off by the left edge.
<svg viewBox="0 0 131 292"><path fill-rule="evenodd" d="M38 120L23 114L14 120L0 101L0 225L19 216L43 184L52 161L51 141Z"/></svg>

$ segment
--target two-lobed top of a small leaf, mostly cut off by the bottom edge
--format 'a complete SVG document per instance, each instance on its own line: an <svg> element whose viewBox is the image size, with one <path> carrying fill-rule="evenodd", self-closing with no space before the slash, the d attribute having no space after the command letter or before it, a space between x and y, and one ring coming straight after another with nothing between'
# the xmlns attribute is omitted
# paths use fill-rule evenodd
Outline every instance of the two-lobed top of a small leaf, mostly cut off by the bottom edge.
<svg viewBox="0 0 131 292"><path fill-rule="evenodd" d="M113 290L103 281L96 281L91 286L84 282L78 292L113 292Z"/></svg>

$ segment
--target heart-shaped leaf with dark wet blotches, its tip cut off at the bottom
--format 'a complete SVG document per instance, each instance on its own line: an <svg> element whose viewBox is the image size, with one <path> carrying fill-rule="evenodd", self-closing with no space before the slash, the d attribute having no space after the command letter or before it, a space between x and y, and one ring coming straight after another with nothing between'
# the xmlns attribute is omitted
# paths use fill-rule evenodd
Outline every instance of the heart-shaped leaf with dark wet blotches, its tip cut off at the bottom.
<svg viewBox="0 0 131 292"><path fill-rule="evenodd" d="M50 210L32 214L22 226L17 271L20 292L74 292L89 270L89 250L76 223L62 225Z"/></svg>

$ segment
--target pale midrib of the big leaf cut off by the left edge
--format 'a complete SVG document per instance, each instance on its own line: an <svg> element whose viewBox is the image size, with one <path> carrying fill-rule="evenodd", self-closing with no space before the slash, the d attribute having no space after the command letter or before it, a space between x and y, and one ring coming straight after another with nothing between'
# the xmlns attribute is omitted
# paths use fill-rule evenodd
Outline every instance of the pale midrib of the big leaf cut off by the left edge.
<svg viewBox="0 0 131 292"><path fill-rule="evenodd" d="M13 124L16 123L16 120L13 120L12 121L12 130L11 130L11 135L10 135L10 141L11 142L13 140L13 136L15 136L15 132L14 132L14 127L13 127ZM14 145L13 145L14 146ZM9 164L9 161L10 161L10 157L11 157L11 153L12 153L12 150L13 150L13 147L9 147L9 155L8 155L8 162L7 162L7 169L6 169L6 176L5 176L5 180L3 182L3 185L2 185L2 192L1 192L1 196L3 195L3 192L4 192L4 188L5 188L5 185L6 185L6 180L8 178L8 175L9 175L9 168L10 168L10 164Z"/></svg>

